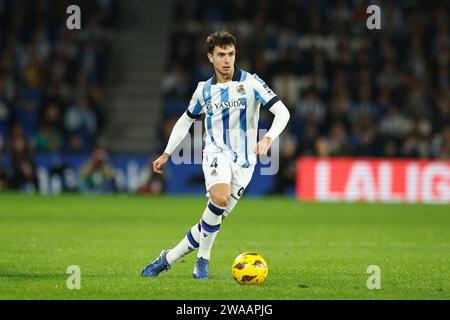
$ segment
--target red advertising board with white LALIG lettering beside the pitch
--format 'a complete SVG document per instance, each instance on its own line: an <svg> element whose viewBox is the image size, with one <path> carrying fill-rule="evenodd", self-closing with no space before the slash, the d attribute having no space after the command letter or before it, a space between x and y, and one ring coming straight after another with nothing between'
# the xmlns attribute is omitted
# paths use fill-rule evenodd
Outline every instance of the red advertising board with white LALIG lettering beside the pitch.
<svg viewBox="0 0 450 320"><path fill-rule="evenodd" d="M302 157L296 180L301 200L450 203L450 161Z"/></svg>

